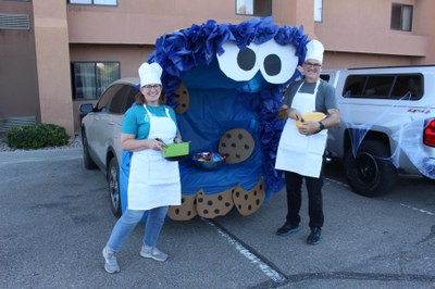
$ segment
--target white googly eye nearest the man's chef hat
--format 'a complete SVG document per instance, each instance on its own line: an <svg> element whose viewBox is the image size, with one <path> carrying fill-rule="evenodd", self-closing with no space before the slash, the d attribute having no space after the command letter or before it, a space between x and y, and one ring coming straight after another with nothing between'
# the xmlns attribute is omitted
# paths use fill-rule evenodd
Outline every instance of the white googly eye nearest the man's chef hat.
<svg viewBox="0 0 435 289"><path fill-rule="evenodd" d="M262 43L257 51L261 74L270 84L284 84L291 78L298 65L296 48L281 46L271 39Z"/></svg>

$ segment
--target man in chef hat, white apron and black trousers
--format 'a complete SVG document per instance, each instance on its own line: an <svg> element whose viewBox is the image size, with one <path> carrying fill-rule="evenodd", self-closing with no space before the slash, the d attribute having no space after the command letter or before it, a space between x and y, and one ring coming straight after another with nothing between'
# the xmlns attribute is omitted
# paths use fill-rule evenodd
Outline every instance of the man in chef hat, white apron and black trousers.
<svg viewBox="0 0 435 289"><path fill-rule="evenodd" d="M327 138L326 129L340 123L335 89L320 79L323 51L323 45L320 41L308 42L302 65L304 79L289 86L278 110L278 118L287 120L287 122L279 139L275 168L285 171L288 212L286 223L276 234L288 236L299 230L301 186L304 178L311 229L307 238L309 244L320 242L324 222L322 167ZM309 120L311 112L322 112L325 118Z"/></svg>

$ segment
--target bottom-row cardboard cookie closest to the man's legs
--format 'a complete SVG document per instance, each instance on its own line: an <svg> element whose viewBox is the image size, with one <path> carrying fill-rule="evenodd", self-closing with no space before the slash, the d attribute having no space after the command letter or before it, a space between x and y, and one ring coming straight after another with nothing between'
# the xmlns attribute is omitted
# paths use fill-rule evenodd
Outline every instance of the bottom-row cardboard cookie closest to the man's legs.
<svg viewBox="0 0 435 289"><path fill-rule="evenodd" d="M260 177L258 184L252 189L245 190L239 184L233 193L234 205L240 215L244 216L249 216L257 212L263 204L264 198L264 179L262 177Z"/></svg>

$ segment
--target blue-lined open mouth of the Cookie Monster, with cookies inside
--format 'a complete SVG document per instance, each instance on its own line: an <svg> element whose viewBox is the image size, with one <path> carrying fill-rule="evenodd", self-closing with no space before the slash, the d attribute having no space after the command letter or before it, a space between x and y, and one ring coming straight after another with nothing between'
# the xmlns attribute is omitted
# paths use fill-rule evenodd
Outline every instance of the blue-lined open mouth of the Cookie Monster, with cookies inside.
<svg viewBox="0 0 435 289"><path fill-rule="evenodd" d="M237 210L253 213L263 203L265 188L258 117L240 96L248 84L227 78L216 63L183 73L182 81L175 112L183 139L191 141L190 154L220 152L227 158L215 171L198 169L191 160L179 162L184 202L171 208L169 215L173 219L225 215L237 196Z"/></svg>

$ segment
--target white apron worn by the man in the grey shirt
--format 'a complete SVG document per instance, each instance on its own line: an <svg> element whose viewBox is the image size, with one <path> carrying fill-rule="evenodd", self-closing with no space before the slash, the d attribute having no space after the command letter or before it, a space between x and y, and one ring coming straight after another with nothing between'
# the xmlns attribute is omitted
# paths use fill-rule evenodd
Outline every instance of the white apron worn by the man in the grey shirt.
<svg viewBox="0 0 435 289"><path fill-rule="evenodd" d="M314 93L299 92L299 86L291 108L301 114L315 111L315 96L320 81L316 83ZM295 121L288 118L281 135L276 154L275 168L297 173L302 176L319 177L325 151L327 130L306 136L299 134Z"/></svg>

